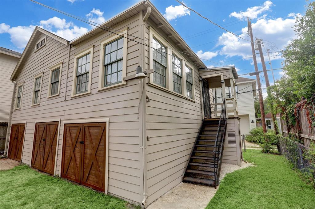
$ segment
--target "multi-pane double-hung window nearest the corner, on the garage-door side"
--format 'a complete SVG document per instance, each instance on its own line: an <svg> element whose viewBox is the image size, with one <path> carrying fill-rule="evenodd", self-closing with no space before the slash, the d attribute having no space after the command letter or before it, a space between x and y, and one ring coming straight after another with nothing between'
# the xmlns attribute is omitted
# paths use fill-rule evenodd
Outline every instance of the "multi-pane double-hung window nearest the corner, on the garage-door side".
<svg viewBox="0 0 315 209"><path fill-rule="evenodd" d="M105 46L104 86L121 83L123 80L123 38Z"/></svg>

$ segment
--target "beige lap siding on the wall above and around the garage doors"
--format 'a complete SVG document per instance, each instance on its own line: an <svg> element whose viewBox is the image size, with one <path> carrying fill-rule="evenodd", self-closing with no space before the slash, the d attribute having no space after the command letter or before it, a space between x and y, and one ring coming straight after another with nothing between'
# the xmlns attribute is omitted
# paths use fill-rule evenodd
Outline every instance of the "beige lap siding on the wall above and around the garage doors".
<svg viewBox="0 0 315 209"><path fill-rule="evenodd" d="M113 26L114 27L114 26ZM122 30L129 27L128 34L139 35L139 15L119 23L115 29ZM68 46L48 36L46 46L32 51L26 58L26 64L17 78L17 82L24 81L21 109L13 112L12 123L27 121L25 146L22 162L31 163L31 148L35 121L61 120L58 150L56 153L56 174L60 174L62 125L64 121L93 120L109 118L109 159L108 192L123 197L126 200L142 201L140 193L143 190L140 178L140 124L138 116L139 83L130 80L127 85L118 86L98 92L98 76L100 63L100 41L110 32L95 35L82 43L71 46L69 72ZM40 38L39 38L40 39ZM74 55L94 45L91 76L91 94L71 98ZM139 63L139 46L132 40L127 42L127 76L134 74ZM61 74L60 95L47 99L49 85L49 67L63 61ZM33 90L33 76L44 71L40 105L31 107ZM67 78L67 83L66 83ZM66 92L65 92L66 90ZM66 100L65 99L66 93ZM15 93L16 94L16 93ZM142 185L142 187L140 186Z"/></svg>

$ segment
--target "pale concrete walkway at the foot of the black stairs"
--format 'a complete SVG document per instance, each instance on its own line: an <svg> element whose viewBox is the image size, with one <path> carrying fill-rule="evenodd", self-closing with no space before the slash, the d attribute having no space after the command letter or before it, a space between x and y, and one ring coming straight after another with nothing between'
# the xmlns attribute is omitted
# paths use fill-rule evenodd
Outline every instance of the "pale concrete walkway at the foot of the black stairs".
<svg viewBox="0 0 315 209"><path fill-rule="evenodd" d="M242 162L242 166L238 166L222 163L220 181L226 174L249 166L252 164ZM182 182L149 205L148 209L203 209L208 205L218 188Z"/></svg>

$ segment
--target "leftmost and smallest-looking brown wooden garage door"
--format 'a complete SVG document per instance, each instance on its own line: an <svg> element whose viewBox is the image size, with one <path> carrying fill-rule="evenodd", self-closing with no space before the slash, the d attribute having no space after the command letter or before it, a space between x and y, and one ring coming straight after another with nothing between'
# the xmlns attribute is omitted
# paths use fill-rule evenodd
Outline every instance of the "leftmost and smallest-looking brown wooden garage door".
<svg viewBox="0 0 315 209"><path fill-rule="evenodd" d="M25 123L12 124L8 158L21 161Z"/></svg>

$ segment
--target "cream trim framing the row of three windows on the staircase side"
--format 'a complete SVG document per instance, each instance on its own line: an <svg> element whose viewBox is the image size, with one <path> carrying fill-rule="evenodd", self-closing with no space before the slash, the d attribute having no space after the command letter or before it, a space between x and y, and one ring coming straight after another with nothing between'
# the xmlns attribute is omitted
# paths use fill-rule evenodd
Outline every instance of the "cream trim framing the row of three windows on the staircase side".
<svg viewBox="0 0 315 209"><path fill-rule="evenodd" d="M185 58L183 56L175 53L175 50L172 50L172 48L174 48L174 47L167 40L165 40L161 35L159 35L156 32L156 30L154 30L152 27L149 28L149 40L150 40L150 42L149 42L149 44L150 44L149 65L150 65L150 69L153 68L153 57L152 57L152 53L153 53L153 48L152 48L153 40L152 39L153 39L153 37L157 41L161 42L166 47L166 53L167 53L166 88L153 82L153 73L151 73L149 75L150 76L149 85L195 102L194 68L191 65L189 65L188 62L185 62ZM181 85L182 89L181 89L181 92L182 92L182 94L177 93L173 90L172 54L174 54L176 57L178 57L181 60L181 65L182 65L182 85ZM187 96L186 71L185 71L186 69L185 68L183 69L183 66L185 67L186 65L192 69L192 75L193 75L193 77L192 77L192 99Z"/></svg>

